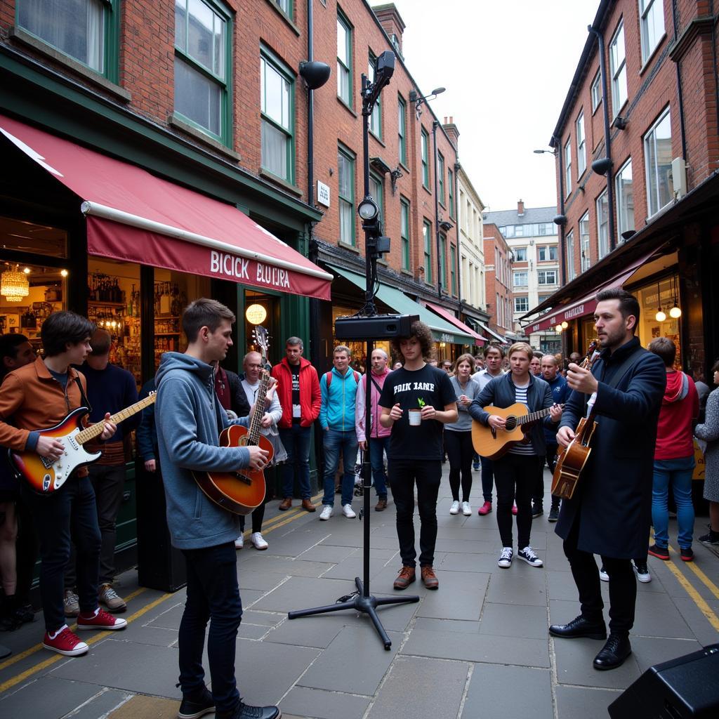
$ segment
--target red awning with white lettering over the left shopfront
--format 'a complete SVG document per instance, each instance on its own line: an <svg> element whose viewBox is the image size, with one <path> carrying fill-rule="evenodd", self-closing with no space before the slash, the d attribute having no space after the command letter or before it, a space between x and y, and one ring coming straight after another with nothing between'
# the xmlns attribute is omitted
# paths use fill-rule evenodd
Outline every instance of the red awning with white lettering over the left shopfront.
<svg viewBox="0 0 719 719"><path fill-rule="evenodd" d="M332 275L235 206L2 115L0 132L83 200L90 255L329 300Z"/></svg>

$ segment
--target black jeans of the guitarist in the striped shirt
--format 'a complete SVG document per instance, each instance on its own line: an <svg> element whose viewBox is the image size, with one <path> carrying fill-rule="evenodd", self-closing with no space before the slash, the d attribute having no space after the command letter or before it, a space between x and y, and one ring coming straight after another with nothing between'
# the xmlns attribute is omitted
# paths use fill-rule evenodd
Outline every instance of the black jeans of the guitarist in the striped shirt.
<svg viewBox="0 0 719 719"><path fill-rule="evenodd" d="M493 469L497 485L497 526L502 546L513 546L512 505L517 503L518 548L529 544L532 527L532 493L539 471L536 454L505 454L495 459Z"/></svg>

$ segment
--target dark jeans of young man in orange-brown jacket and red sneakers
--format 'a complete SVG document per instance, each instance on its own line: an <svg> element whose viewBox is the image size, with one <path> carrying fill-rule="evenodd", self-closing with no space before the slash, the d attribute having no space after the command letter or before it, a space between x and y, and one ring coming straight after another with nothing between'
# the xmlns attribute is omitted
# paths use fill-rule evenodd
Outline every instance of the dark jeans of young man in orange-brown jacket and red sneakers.
<svg viewBox="0 0 719 719"><path fill-rule="evenodd" d="M22 488L22 498L35 516L40 537L40 597L47 631L65 624L63 589L70 559L70 536L77 550L78 599L83 614L97 609L100 529L95 492L88 477L72 477L50 496Z"/></svg>

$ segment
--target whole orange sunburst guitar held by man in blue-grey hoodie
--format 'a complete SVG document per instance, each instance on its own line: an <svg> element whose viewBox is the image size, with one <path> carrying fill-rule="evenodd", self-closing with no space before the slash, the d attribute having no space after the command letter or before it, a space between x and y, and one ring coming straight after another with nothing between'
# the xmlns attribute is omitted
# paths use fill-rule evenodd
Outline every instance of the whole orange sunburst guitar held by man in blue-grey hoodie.
<svg viewBox="0 0 719 719"><path fill-rule="evenodd" d="M265 414L264 398L270 375L260 372L260 387L257 389L257 402L252 410L249 427L231 424L220 434L220 446L242 447L259 445L267 450L267 464L272 462L275 449L270 440L260 434L262 415ZM193 477L200 489L215 504L233 514L247 515L262 504L265 499L265 472L244 467L236 472L195 472Z"/></svg>

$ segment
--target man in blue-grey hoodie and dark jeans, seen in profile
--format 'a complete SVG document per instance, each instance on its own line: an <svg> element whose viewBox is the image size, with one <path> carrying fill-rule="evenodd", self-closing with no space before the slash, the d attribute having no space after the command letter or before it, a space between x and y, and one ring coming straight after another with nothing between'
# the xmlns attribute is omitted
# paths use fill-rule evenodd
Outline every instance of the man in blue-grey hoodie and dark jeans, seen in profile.
<svg viewBox="0 0 719 719"><path fill-rule="evenodd" d="M219 433L228 420L215 394L211 362L221 362L232 347L234 321L232 311L216 300L201 298L191 303L182 319L188 348L184 354L163 354L155 375L157 446L168 527L187 565L187 600L178 637L180 719L211 712L218 719L280 717L278 707L248 706L237 691L234 657L242 601L234 539L239 534L239 518L209 500L192 475L193 470L261 470L267 464L267 452L259 446L219 446ZM247 417L236 423L247 426ZM202 668L209 619L212 693Z"/></svg>

